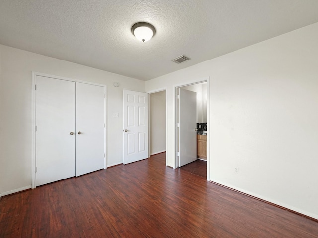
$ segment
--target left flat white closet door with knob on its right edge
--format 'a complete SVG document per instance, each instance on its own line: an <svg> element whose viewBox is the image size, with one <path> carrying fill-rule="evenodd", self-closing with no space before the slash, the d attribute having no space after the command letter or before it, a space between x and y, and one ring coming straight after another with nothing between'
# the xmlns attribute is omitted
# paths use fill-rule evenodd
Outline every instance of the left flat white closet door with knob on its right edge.
<svg viewBox="0 0 318 238"><path fill-rule="evenodd" d="M75 82L36 76L36 186L75 176Z"/></svg>

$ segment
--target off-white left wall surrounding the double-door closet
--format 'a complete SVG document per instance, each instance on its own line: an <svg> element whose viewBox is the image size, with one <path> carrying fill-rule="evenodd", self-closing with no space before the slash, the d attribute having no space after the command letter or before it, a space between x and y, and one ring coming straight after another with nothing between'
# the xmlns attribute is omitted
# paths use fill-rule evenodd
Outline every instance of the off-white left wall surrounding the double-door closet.
<svg viewBox="0 0 318 238"><path fill-rule="evenodd" d="M107 165L123 162L123 88L144 92L144 81L3 45L0 68L2 195L31 185L31 71L106 84ZM120 83L118 88L114 81Z"/></svg>

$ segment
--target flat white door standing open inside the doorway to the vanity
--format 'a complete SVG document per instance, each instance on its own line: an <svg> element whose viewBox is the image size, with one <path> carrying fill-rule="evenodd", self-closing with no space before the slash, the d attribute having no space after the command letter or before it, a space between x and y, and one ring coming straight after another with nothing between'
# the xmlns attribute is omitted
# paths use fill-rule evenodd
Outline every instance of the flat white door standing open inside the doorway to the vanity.
<svg viewBox="0 0 318 238"><path fill-rule="evenodd" d="M197 159L197 93L179 88L178 166Z"/></svg>

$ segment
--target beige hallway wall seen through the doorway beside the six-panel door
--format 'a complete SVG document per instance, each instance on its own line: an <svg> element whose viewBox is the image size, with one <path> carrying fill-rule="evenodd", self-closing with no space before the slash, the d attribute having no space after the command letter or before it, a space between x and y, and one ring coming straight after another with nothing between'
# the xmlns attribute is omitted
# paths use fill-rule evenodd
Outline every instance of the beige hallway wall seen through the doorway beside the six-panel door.
<svg viewBox="0 0 318 238"><path fill-rule="evenodd" d="M150 154L165 151L165 91L150 94Z"/></svg>

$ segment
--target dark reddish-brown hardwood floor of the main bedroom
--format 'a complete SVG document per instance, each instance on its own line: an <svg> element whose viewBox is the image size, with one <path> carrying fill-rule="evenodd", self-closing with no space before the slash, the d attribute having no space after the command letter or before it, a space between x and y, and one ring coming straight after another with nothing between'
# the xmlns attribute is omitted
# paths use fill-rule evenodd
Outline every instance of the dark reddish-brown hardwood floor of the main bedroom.
<svg viewBox="0 0 318 238"><path fill-rule="evenodd" d="M165 153L0 201L1 238L318 238L318 223L165 166Z"/></svg>

